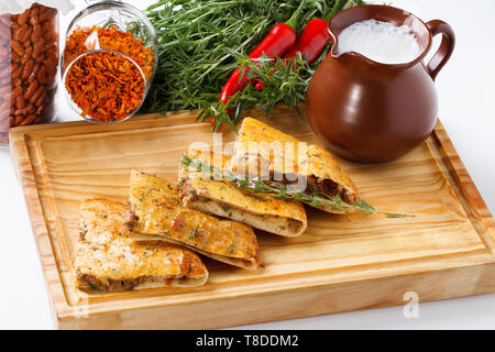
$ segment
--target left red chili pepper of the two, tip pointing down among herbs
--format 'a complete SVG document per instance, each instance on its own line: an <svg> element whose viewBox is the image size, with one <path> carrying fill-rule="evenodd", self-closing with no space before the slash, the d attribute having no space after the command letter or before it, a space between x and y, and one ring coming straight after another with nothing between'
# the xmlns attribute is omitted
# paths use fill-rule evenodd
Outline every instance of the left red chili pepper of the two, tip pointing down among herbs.
<svg viewBox="0 0 495 352"><path fill-rule="evenodd" d="M306 0L301 1L296 12L290 16L290 19L285 23L276 24L272 31L263 38L263 41L254 48L249 57L251 59L260 58L264 54L268 58L275 58L276 56L282 56L287 50L289 50L296 42L297 35L294 31L297 19L305 6ZM235 69L230 76L227 84L223 86L220 92L219 101L226 105L229 98L234 94L242 91L249 84L248 73L250 67L246 67L244 72ZM211 121L211 125L215 125L215 118Z"/></svg>

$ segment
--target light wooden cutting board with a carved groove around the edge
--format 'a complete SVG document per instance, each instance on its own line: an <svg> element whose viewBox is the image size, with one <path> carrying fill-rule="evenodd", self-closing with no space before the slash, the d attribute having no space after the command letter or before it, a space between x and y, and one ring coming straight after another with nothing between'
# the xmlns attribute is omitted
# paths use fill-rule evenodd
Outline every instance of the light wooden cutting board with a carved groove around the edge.
<svg viewBox="0 0 495 352"><path fill-rule="evenodd" d="M252 116L263 119L257 111ZM220 328L405 305L415 294L421 302L495 292L495 221L439 122L428 141L396 162L342 161L362 198L415 218L308 209L301 237L258 233L263 265L255 272L205 258L210 279L202 287L79 293L73 276L79 201L125 201L132 168L175 182L183 152L195 141L213 142L209 124L196 124L194 117L11 131L12 157L59 328ZM290 110L280 108L266 122L318 143ZM234 136L226 132L222 139Z"/></svg>

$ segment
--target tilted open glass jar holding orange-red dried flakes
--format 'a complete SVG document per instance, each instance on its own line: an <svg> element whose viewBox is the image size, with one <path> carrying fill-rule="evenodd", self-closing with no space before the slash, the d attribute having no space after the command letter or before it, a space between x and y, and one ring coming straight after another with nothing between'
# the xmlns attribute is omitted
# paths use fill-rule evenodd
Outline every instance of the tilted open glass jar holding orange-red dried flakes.
<svg viewBox="0 0 495 352"><path fill-rule="evenodd" d="M136 8L103 1L72 21L62 58L70 107L94 123L130 119L143 103L157 63L153 25Z"/></svg>

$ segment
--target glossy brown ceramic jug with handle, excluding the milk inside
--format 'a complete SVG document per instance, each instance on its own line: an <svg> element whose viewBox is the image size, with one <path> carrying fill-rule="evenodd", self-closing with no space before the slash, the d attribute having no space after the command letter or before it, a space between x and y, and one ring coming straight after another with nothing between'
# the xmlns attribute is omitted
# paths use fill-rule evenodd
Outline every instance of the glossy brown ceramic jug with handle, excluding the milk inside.
<svg viewBox="0 0 495 352"><path fill-rule="evenodd" d="M339 53L339 34L349 25L377 20L410 28L419 56L389 65L355 53ZM356 162L395 160L426 140L438 112L433 80L449 61L455 42L452 29L387 6L360 6L334 15L329 23L332 48L311 79L307 118L326 146ZM425 65L432 36L442 34L438 52Z"/></svg>

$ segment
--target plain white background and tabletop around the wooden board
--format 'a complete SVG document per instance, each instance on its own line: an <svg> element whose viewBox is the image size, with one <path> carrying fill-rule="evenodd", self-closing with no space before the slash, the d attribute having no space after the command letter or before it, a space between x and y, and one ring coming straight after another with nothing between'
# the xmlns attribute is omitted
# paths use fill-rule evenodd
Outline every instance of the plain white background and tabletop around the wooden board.
<svg viewBox="0 0 495 352"><path fill-rule="evenodd" d="M144 8L153 1L129 2ZM386 2L425 21L441 19L453 26L455 52L437 79L440 118L495 213L495 0ZM73 119L68 108L62 106L61 116ZM48 297L24 197L7 150L0 150L0 329L52 329ZM420 302L418 319L406 319L403 307L392 307L246 328L495 329L495 294Z"/></svg>

